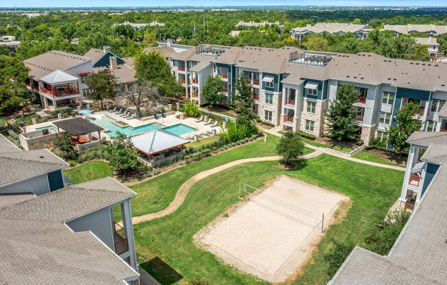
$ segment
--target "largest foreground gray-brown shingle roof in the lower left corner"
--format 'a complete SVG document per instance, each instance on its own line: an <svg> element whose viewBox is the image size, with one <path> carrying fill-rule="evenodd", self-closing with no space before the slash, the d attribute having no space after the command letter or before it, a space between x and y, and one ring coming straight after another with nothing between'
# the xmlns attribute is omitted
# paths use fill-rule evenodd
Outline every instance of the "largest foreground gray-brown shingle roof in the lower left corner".
<svg viewBox="0 0 447 285"><path fill-rule="evenodd" d="M122 285L121 280L138 276L93 234L73 233L62 223L133 195L107 177L0 210L0 280L4 284Z"/></svg>

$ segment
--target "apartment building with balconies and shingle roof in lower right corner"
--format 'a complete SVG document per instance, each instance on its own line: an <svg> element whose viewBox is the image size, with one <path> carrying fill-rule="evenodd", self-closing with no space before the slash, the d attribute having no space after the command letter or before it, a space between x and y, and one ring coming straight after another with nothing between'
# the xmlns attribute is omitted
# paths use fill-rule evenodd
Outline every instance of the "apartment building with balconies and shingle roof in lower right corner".
<svg viewBox="0 0 447 285"><path fill-rule="evenodd" d="M446 284L447 133L415 132L407 142L400 197L402 208L413 210L407 225L387 256L354 247L328 285Z"/></svg>

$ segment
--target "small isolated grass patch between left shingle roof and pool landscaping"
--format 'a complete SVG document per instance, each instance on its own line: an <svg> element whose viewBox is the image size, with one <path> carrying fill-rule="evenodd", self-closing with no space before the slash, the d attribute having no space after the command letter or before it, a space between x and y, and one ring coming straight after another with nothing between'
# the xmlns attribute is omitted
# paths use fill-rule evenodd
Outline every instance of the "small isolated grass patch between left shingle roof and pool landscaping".
<svg viewBox="0 0 447 285"><path fill-rule="evenodd" d="M73 169L64 171L64 175L69 177L75 184L99 179L103 177L112 177L112 169L110 165L104 161L92 161L84 163Z"/></svg>

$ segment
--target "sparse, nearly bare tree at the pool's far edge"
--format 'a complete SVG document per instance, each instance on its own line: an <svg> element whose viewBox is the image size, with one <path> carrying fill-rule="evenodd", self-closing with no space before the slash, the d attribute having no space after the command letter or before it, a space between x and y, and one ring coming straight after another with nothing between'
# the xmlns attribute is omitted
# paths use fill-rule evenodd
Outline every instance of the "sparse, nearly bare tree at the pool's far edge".
<svg viewBox="0 0 447 285"><path fill-rule="evenodd" d="M141 116L141 107L156 108L158 105L165 105L167 99L162 97L158 90L148 82L137 82L129 86L127 90L121 89L117 97L125 99L127 103L133 104L136 113Z"/></svg>

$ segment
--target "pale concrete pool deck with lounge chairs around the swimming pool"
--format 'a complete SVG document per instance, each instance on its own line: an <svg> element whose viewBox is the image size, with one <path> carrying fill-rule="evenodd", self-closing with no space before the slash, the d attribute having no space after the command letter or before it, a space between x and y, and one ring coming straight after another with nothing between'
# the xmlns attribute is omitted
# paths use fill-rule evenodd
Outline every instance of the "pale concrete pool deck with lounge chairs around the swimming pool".
<svg viewBox="0 0 447 285"><path fill-rule="evenodd" d="M98 119L101 118L102 116L108 116L108 117L114 119L115 121L121 121L121 122L123 122L123 125L128 125L130 127L141 127L143 125L149 125L152 123L158 123L158 124L162 125L163 127L170 127L172 125L178 125L178 124L187 125L188 127L192 127L193 129L195 129L195 131L189 132L186 134L182 134L180 136L182 138L187 138L190 140L206 138L207 136L213 136L214 134L219 134L221 132L220 126L212 127L212 125L205 125L204 121L197 123L196 122L197 118L186 118L183 120L176 118L176 116L178 116L180 114L182 114L182 112L176 112L175 114L166 116L166 118L162 118L160 116L160 119L152 119L152 120L147 120L147 121L140 121L138 119L125 119L125 118L119 116L118 114L114 114L114 113L108 112L108 111L99 111L99 112L95 112L93 114L88 114L88 116L90 116L92 118L98 118ZM85 116L83 116L83 117L85 118ZM26 132L34 132L36 129L38 129L40 127L48 127L51 125L56 127L53 124L53 121L37 123L36 125L27 125ZM104 131L101 132L101 137L109 138L109 135L105 133L106 131L108 131L108 129L104 129Z"/></svg>

